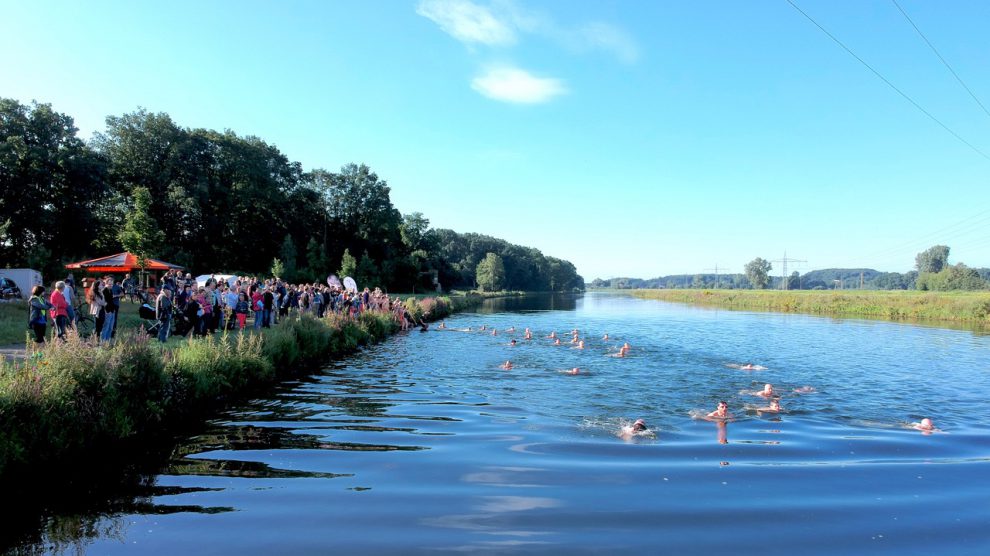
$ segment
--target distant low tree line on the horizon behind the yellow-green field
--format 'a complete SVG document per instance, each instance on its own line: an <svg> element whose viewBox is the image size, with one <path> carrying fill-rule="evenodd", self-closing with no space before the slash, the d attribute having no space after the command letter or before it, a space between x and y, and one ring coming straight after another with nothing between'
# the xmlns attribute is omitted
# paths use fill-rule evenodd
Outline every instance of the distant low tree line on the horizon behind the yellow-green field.
<svg viewBox="0 0 990 556"><path fill-rule="evenodd" d="M825 290L986 290L990 289L990 268L970 268L963 263L949 264L949 247L936 245L915 257L915 270L879 272L870 268L828 268L805 274L792 272L789 276L772 276L770 261L757 257L746 264L743 273L736 274L676 274L651 279L596 279L593 288L618 289L788 289ZM784 281L786 280L786 286Z"/></svg>

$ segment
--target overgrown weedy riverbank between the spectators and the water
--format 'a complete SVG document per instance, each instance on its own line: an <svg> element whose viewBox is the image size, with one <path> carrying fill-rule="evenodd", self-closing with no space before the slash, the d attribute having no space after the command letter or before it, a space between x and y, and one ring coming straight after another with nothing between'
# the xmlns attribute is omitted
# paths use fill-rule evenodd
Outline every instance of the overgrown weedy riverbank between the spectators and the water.
<svg viewBox="0 0 990 556"><path fill-rule="evenodd" d="M408 300L436 320L480 298ZM110 346L50 343L25 362L0 361L0 484L122 443L139 445L202 419L276 380L395 333L391 314L292 318L261 333L228 333L159 345L122 330ZM9 483L8 483L9 484Z"/></svg>

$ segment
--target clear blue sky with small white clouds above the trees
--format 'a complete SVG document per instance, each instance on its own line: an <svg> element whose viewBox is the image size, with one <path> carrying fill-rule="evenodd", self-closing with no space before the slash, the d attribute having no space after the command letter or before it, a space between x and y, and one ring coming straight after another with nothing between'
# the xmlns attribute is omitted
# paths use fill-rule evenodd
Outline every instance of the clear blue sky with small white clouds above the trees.
<svg viewBox="0 0 990 556"><path fill-rule="evenodd" d="M888 0L793 0L982 153L990 116ZM898 0L990 106L990 2ZM0 0L0 96L83 137L145 107L366 163L403 213L588 280L990 266L990 159L786 0ZM779 272L780 265L774 265Z"/></svg>

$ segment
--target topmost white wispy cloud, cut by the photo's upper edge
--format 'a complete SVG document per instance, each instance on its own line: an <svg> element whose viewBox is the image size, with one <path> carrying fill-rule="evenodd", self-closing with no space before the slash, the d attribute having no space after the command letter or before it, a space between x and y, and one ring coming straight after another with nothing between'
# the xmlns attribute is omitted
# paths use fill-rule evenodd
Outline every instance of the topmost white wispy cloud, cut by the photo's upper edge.
<svg viewBox="0 0 990 556"><path fill-rule="evenodd" d="M504 46L516 42L516 33L507 22L468 0L421 0L416 13L463 43Z"/></svg>

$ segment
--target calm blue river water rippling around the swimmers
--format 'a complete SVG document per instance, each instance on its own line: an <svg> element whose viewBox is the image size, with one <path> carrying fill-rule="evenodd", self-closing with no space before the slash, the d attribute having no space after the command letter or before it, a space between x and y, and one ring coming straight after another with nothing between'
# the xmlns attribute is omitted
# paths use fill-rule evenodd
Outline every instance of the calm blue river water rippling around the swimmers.
<svg viewBox="0 0 990 556"><path fill-rule="evenodd" d="M459 315L283 384L84 541L31 548L990 553L990 337L607 294L534 309ZM630 357L609 357L622 342ZM729 366L745 362L767 370ZM764 383L784 413L755 411ZM720 399L736 420L692 418ZM944 432L906 426L922 417ZM636 418L655 434L619 438Z"/></svg>

